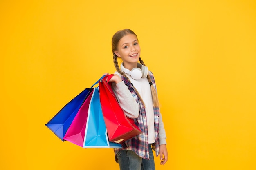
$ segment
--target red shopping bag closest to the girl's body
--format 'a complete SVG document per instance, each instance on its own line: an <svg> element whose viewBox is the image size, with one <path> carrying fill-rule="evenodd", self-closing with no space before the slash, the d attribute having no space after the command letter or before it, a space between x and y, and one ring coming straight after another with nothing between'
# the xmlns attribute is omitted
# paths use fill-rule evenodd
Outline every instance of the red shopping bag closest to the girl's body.
<svg viewBox="0 0 256 170"><path fill-rule="evenodd" d="M135 125L133 119L126 117L119 106L111 84L107 82L112 76L106 75L99 82L100 103L109 141L121 144L139 135L141 130Z"/></svg>

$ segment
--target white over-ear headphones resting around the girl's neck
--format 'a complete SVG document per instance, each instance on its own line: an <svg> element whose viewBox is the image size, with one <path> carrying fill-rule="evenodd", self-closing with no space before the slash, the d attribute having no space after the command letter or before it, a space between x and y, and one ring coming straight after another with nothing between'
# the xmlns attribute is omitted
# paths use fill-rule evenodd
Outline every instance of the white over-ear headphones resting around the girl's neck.
<svg viewBox="0 0 256 170"><path fill-rule="evenodd" d="M124 71L124 73L129 74L133 79L140 79L140 78L146 78L148 75L148 67L138 63L138 67L132 68L132 70L128 70L124 68L123 63L121 63L121 71Z"/></svg>

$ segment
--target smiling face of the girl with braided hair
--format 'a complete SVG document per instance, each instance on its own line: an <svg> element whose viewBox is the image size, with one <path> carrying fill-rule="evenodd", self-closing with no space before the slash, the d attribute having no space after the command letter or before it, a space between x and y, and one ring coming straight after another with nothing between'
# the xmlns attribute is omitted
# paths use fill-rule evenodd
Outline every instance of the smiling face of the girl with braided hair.
<svg viewBox="0 0 256 170"><path fill-rule="evenodd" d="M127 34L120 39L117 51L114 51L117 57L121 57L124 67L132 69L137 67L140 56L140 47L136 35Z"/></svg>

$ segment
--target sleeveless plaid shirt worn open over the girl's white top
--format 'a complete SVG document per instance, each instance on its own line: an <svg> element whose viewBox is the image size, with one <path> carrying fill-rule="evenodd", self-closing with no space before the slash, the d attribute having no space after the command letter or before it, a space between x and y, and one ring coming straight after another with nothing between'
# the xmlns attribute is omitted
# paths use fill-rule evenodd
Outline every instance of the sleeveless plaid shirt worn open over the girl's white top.
<svg viewBox="0 0 256 170"><path fill-rule="evenodd" d="M153 73L149 71L150 78L152 80L153 86L156 89L155 85L155 79L153 76ZM137 103L139 103L140 111L139 111L139 117L134 119L135 124L139 127L139 129L142 131L141 134L128 139L127 141L124 141L122 143L122 149L114 148L115 155L117 155L117 152L120 150L132 150L137 155L144 159L149 159L149 150L148 150L148 127L147 127L147 117L146 117L146 110L141 102L141 99L138 97L136 91L132 88L132 84L126 79L126 77L121 76L122 80L124 80L124 83L132 93L132 96L136 99ZM159 128L159 108L154 108L154 124L155 124L155 143L153 144L153 149L156 152L156 156L159 155L159 134L158 134L158 128ZM116 161L117 157L115 156ZM118 162L118 161L117 161Z"/></svg>

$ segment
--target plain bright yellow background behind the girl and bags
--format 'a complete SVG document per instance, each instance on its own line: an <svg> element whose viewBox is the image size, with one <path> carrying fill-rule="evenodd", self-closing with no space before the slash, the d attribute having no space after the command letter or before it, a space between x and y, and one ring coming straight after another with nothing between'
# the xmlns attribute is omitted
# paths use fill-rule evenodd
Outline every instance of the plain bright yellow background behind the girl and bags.
<svg viewBox="0 0 256 170"><path fill-rule="evenodd" d="M256 170L255 0L0 1L0 169L117 170L112 149L45 124L104 73L112 35L137 33L168 142L162 170Z"/></svg>

